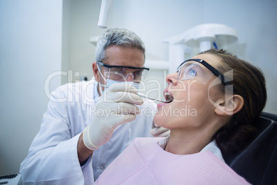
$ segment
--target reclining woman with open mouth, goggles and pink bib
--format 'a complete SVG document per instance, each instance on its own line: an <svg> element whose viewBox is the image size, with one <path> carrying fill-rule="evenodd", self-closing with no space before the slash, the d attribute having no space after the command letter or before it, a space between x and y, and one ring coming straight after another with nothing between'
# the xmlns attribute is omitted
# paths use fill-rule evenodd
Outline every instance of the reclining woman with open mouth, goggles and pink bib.
<svg viewBox="0 0 277 185"><path fill-rule="evenodd" d="M165 98L154 122L164 138L137 138L96 184L248 184L224 162L256 135L265 107L258 68L225 50L207 50L167 75Z"/></svg>

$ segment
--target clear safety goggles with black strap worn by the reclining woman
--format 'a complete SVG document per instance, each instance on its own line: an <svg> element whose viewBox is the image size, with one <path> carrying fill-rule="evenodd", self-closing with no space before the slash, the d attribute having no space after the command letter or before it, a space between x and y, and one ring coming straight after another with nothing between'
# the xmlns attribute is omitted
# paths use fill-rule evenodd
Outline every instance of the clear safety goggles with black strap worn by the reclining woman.
<svg viewBox="0 0 277 185"><path fill-rule="evenodd" d="M205 68L203 68L203 66L205 66ZM231 84L229 81L225 81L223 74L203 59L188 59L178 66L177 72L178 80L196 79L196 81L206 84L213 77L213 75L215 75L225 86Z"/></svg>

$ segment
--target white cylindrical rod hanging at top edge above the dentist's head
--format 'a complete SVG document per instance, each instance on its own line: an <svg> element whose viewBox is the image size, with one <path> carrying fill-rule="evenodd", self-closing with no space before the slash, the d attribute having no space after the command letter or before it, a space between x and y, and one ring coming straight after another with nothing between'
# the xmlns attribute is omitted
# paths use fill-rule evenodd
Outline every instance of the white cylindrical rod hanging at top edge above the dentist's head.
<svg viewBox="0 0 277 185"><path fill-rule="evenodd" d="M107 19L112 7L112 0L102 0L101 9L99 14L98 26L99 28L107 28Z"/></svg>

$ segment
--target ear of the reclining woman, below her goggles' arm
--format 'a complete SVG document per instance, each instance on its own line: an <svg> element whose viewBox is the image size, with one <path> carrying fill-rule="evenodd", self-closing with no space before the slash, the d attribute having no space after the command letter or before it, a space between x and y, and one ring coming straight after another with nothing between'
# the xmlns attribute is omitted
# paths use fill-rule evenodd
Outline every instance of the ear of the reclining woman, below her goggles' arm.
<svg viewBox="0 0 277 185"><path fill-rule="evenodd" d="M225 96L225 99L218 99L214 110L218 115L234 115L243 108L243 97L240 95Z"/></svg>

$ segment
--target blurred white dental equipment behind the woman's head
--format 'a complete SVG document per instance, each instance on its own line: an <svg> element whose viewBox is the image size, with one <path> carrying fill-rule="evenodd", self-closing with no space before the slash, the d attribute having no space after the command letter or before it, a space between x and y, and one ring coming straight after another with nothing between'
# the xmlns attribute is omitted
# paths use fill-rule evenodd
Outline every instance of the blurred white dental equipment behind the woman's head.
<svg viewBox="0 0 277 185"><path fill-rule="evenodd" d="M237 31L223 24L205 23L175 35L165 42L170 44L169 57L170 68L169 73L175 72L178 64L211 48L221 49L230 43L234 43L237 37ZM192 53L193 48L199 48L196 53ZM186 56L188 55L188 56Z"/></svg>

